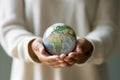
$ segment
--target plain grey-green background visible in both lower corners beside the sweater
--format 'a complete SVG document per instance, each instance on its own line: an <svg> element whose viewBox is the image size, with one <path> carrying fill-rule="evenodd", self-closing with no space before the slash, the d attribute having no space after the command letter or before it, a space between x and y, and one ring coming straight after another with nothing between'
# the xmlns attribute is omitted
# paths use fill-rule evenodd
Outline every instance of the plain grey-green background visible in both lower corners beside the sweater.
<svg viewBox="0 0 120 80"><path fill-rule="evenodd" d="M10 80L12 59L0 46L0 80ZM108 72L110 80L120 80L120 50L108 60Z"/></svg>

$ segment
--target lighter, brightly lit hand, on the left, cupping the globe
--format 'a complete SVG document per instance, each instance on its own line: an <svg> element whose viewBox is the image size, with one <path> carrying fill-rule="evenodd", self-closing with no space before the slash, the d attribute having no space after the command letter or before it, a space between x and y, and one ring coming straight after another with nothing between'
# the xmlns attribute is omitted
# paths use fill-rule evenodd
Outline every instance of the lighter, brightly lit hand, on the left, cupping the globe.
<svg viewBox="0 0 120 80"><path fill-rule="evenodd" d="M32 42L32 50L38 57L41 63L49 65L54 68L61 68L68 66L67 63L58 55L49 55L43 46L42 39L37 38Z"/></svg>

